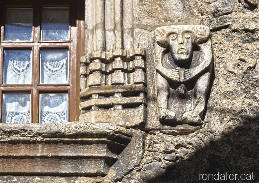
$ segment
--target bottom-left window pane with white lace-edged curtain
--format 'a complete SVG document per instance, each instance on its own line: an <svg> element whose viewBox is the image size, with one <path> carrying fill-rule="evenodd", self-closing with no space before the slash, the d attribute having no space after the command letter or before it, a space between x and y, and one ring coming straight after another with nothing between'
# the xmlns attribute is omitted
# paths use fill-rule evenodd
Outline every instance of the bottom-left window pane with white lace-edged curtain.
<svg viewBox="0 0 259 183"><path fill-rule="evenodd" d="M3 93L2 123L30 123L30 93Z"/></svg>

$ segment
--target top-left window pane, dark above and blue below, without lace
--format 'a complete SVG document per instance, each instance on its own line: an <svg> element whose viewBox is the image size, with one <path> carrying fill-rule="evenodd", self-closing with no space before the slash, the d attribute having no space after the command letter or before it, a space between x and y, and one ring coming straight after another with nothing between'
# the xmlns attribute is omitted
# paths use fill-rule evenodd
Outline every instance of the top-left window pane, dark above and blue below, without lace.
<svg viewBox="0 0 259 183"><path fill-rule="evenodd" d="M32 8L6 8L5 40L32 40Z"/></svg>

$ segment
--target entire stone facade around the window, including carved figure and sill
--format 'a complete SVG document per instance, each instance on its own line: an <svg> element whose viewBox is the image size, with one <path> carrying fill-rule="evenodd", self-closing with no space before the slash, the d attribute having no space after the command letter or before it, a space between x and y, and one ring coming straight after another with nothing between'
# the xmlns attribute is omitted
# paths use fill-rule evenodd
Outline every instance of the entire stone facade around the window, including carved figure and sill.
<svg viewBox="0 0 259 183"><path fill-rule="evenodd" d="M258 3L86 0L80 121L0 124L0 183L259 182Z"/></svg>

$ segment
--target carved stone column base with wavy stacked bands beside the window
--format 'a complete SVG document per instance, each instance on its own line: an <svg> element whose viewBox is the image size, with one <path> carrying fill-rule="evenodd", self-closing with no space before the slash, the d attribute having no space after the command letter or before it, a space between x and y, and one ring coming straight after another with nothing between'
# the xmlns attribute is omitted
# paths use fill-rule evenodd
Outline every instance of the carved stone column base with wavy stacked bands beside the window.
<svg viewBox="0 0 259 183"><path fill-rule="evenodd" d="M80 121L141 127L146 121L146 51L95 51L81 58Z"/></svg>

